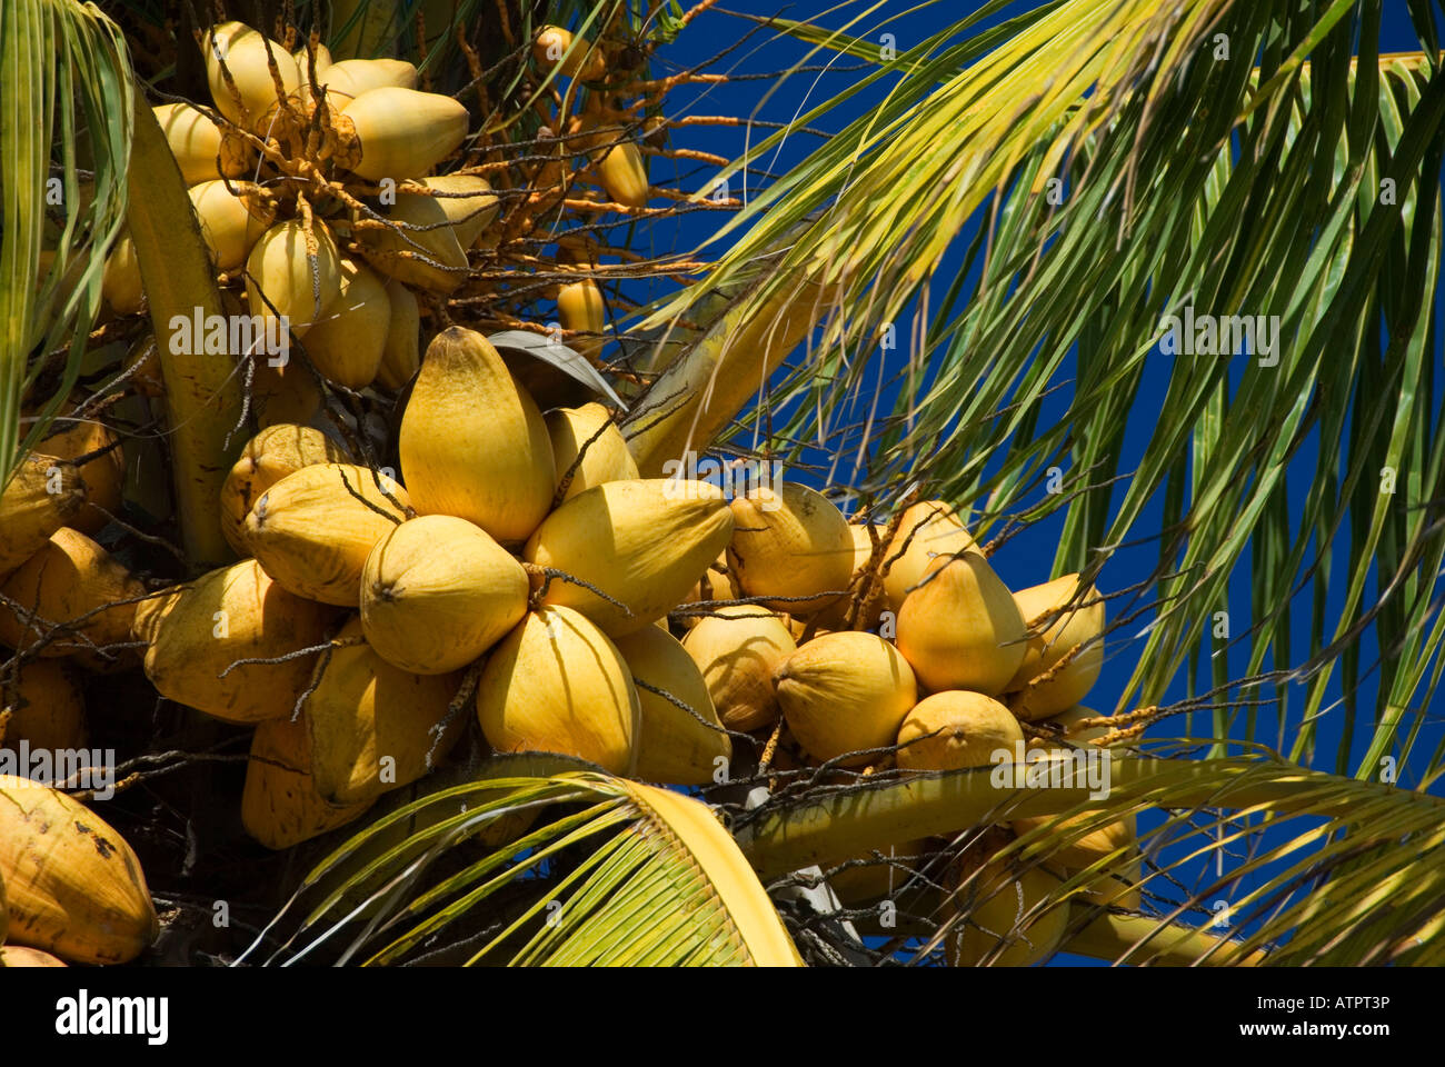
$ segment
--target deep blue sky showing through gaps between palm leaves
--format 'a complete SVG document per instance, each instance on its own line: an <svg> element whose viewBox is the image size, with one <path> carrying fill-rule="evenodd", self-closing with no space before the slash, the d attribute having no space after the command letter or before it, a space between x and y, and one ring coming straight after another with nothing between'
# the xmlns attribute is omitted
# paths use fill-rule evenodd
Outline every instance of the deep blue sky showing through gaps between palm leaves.
<svg viewBox="0 0 1445 1067"><path fill-rule="evenodd" d="M685 7L691 4L683 4ZM777 3L763 3L760 0L725 0L722 4L731 10L750 12L754 14L782 14L785 17L793 19L814 19L819 25L838 27L841 26L848 12L864 10L864 4L850 4L842 12L832 14L819 14L825 10L821 6L783 6ZM903 12L912 7L912 4L890 4L886 12ZM894 33L897 39L899 51L905 51L918 40L923 39L932 32L942 29L945 25L955 22L962 16L965 10L972 10L978 4L959 3L952 0L951 3L933 4L925 10L907 14L899 22L887 26L887 32ZM1020 10L1026 10L1030 4L1012 4L1007 10L991 19L991 22L1001 22L1006 17L1016 14ZM867 25L874 25L883 16L873 16ZM699 64L717 52L722 51L728 45L737 42L743 33L753 27L753 23L746 22L738 17L731 17L728 14L705 13L702 14L681 38L679 40L666 49L660 59L665 64L672 64L676 67L692 67ZM877 33L870 35L877 39ZM1380 49L1383 52L1394 51L1415 51L1418 42L1415 33L1410 27L1409 19L1405 12L1403 3L1386 4L1384 25L1381 29ZM751 38L749 43L733 52L721 64L709 68L714 71L731 71L731 72L762 72L762 71L777 71L798 62L805 53L806 48L789 39L776 39L772 30L763 29ZM847 58L829 56L827 53L819 53L812 62L827 62L834 59L838 67L853 67L855 61ZM809 106L811 101L821 100L824 97L835 95L841 88L850 85L853 80L861 77L860 72L853 72L847 69L835 69L828 74L805 74L795 75L782 88L776 91L770 98L764 100L764 94L773 88L770 80L757 81L736 81L722 87L708 87L701 91L681 90L673 94L669 101L669 113L682 114L728 114L737 117L757 117L769 121L788 121L799 110ZM848 120L863 114L871 103L877 98L879 93L886 91L886 85L874 87L876 93L871 95L860 95L858 98L848 101L840 107L835 113L831 113L824 120L815 123L827 130L840 129ZM754 132L754 142L762 136L767 136L767 130ZM685 136L679 134L676 143L705 147L707 150L715 152L722 156L737 156L746 145L747 133L741 127L707 127L688 130ZM782 172L788 165L796 162L812 146L818 143L818 139L811 134L798 133L793 134L786 145L785 150L780 153L779 160L772 165L770 169ZM662 160L656 160L662 162ZM668 165L663 163L662 168L655 169L653 179L657 182L668 181ZM712 168L698 166L692 171L679 168L676 171L676 178L673 184L681 185L681 188L694 191L705 188L711 179ZM659 226L653 231L653 241L656 250L666 252L673 249L688 249L699 244L709 233L712 226L720 221L718 215L711 214L692 214L682 215L678 220L669 220L663 226ZM967 247L968 240L972 237L977 227L977 220L974 220L965 230L959 234L957 241L955 253L949 260L945 260L939 278L951 279L954 273L959 269L958 263L962 257L962 249ZM1436 296L1436 307L1439 308L1439 296ZM907 330L900 325L900 338L905 337ZM905 353L896 353L896 360L902 361ZM1438 359L1438 354L1436 354ZM890 366L889 370L893 367ZM1126 435L1126 455L1120 464L1121 471L1130 470L1139 460L1143 451L1143 445L1147 442L1150 432L1153 431L1153 416L1159 409L1160 400L1165 395L1169 382L1170 360L1169 357L1156 354L1147 366L1146 380L1139 393L1139 402L1136 406L1136 413L1130 421L1127 435ZM1068 376L1069 370L1065 369L1064 374ZM1048 413L1055 416L1062 415L1066 403L1065 396L1052 405ZM1306 444L1305 448L1295 457L1292 471L1299 473L1290 479L1289 483L1289 502L1292 515L1299 513L1305 493L1308 490L1308 479L1314 470L1315 458L1318 454L1319 441L1318 434ZM1123 499L1123 487L1116 490L1114 503ZM1144 516L1140 526L1136 528L1136 534L1144 534L1150 529L1150 522L1157 523L1159 515L1162 513L1162 502L1156 500L1153 503L1152 512ZM1051 577L1046 571L1049 561L1053 558L1053 551L1058 541L1058 531L1062 526L1062 513L1053 519L1039 522L1030 528L1026 534L1010 541L1006 548L996 555L994 567L1000 577L1013 588L1035 584ZM1348 554L1348 529L1342 529L1335 542L1335 551L1345 557ZM1100 580L1100 586L1105 590L1120 588L1137 580L1137 575L1147 574L1155 562L1157 561L1157 547L1152 542L1143 544L1134 549L1123 549L1114 555L1110 564L1105 567L1104 574ZM1344 601L1344 581L1342 581L1344 567L1338 565L1334 568L1334 583L1331 588L1331 617L1327 619L1327 627L1332 629L1338 620L1338 613ZM1367 591L1367 597L1373 590ZM1295 633L1292 635L1292 651L1298 659L1303 658L1303 649L1309 646L1309 590L1306 588L1296 601L1296 610L1293 612ZM1231 575L1231 590L1230 590L1230 609L1234 614L1234 629L1235 632L1246 629L1247 622L1243 619L1248 614L1248 600L1250 600L1250 573L1248 573L1248 552L1244 554L1240 567ZM1139 623L1143 625L1143 620ZM1137 630L1136 630L1137 632ZM1101 677L1098 685L1091 694L1088 704L1097 708L1108 710L1114 707L1133 667L1133 658L1137 656L1139 648L1142 648L1142 640L1131 642L1130 635L1120 635L1118 640L1110 648L1110 661L1105 665L1104 675ZM1373 638L1367 635L1363 645L1363 667L1368 667L1376 655L1376 648ZM1248 661L1248 646L1246 642L1238 642L1230 652L1230 677L1241 677L1246 674ZM1266 662L1266 668L1270 664ZM1360 710L1363 716L1367 716L1374 707L1376 687L1373 678L1367 678L1360 691ZM1211 685L1208 665L1201 667L1199 688L1208 688ZM1335 701L1340 698L1340 669L1338 667L1332 675L1331 694L1327 700ZM1185 695L1185 682L1178 680L1173 690L1168 694L1170 700L1181 698ZM1290 693L1290 719L1298 720L1299 710L1303 704L1305 688L1295 687ZM1439 713L1435 711L1435 721L1426 727L1425 736L1422 736L1418 752L1428 758L1441 740L1441 723ZM1264 716L1267 713L1261 713ZM1319 729L1319 758L1318 765L1321 769L1334 769L1334 749L1341 736L1341 726L1344 723L1344 706L1334 706L1332 710L1325 716ZM1201 721L1199 729L1207 729L1208 723ZM1168 733L1178 734L1181 727L1172 727ZM1273 730L1261 730L1261 736L1272 734ZM1355 729L1355 743L1353 746L1351 768L1354 771L1354 763L1366 749L1366 743L1370 734L1370 723L1363 721ZM1420 762L1416 760L1416 766ZM1412 778L1409 771L1402 775L1402 784L1413 785L1418 775Z"/></svg>

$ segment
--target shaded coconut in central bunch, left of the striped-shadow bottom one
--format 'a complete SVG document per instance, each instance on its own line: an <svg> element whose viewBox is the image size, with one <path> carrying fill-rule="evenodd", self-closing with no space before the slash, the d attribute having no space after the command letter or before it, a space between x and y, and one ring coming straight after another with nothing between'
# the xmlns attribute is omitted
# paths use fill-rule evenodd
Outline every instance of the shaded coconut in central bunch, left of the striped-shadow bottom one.
<svg viewBox="0 0 1445 1067"><path fill-rule="evenodd" d="M337 642L358 640L361 620L351 619ZM337 648L316 664L306 697L311 774L316 792L337 807L358 804L426 775L461 736L465 719L432 733L461 687L460 674L402 671L367 643Z"/></svg>

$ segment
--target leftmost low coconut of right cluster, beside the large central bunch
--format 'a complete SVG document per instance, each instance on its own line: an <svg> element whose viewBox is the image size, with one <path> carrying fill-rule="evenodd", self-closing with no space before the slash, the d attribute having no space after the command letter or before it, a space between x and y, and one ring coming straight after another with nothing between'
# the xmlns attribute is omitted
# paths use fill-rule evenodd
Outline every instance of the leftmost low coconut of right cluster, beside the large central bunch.
<svg viewBox="0 0 1445 1067"><path fill-rule="evenodd" d="M777 721L773 672L798 651L788 623L766 607L720 607L682 640L730 730L762 730Z"/></svg>

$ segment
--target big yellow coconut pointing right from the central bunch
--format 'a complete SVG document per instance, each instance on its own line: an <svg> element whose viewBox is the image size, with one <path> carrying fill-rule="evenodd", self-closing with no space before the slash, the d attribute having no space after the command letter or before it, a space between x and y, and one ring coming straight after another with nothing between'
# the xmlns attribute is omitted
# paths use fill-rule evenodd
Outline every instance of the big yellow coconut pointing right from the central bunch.
<svg viewBox="0 0 1445 1067"><path fill-rule="evenodd" d="M523 558L610 597L553 577L542 600L575 607L616 636L663 617L731 534L733 515L715 486L675 479L607 481L552 512L527 541Z"/></svg>

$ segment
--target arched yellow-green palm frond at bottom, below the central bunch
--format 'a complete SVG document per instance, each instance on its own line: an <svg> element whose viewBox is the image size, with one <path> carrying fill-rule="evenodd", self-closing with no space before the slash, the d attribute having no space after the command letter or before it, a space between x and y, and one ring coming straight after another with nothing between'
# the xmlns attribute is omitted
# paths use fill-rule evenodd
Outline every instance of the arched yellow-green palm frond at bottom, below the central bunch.
<svg viewBox="0 0 1445 1067"><path fill-rule="evenodd" d="M441 938L467 966L799 963L705 805L585 766L496 758L374 820L302 882L273 927L315 904L270 961L315 959L344 931L338 961L373 966Z"/></svg>

